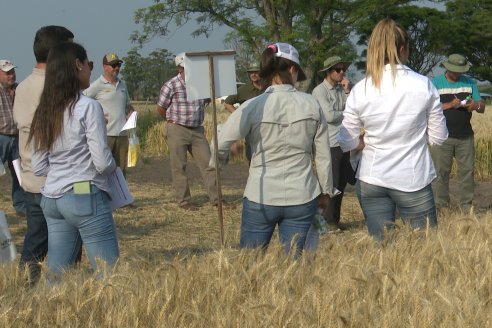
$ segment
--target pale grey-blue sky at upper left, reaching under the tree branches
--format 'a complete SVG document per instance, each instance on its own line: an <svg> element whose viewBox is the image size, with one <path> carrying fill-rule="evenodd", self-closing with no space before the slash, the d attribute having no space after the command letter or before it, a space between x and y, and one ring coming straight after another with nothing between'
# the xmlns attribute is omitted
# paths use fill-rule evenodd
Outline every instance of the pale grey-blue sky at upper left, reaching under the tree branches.
<svg viewBox="0 0 492 328"><path fill-rule="evenodd" d="M125 57L135 46L128 38L139 29L134 23L138 8L153 4L152 0L4 0L0 19L0 59L10 59L17 66L17 81L27 77L35 65L32 44L36 31L45 25L62 25L75 34L94 61L91 81L102 72L102 58L107 52ZM226 28L214 31L207 39L190 36L192 26L179 29L167 38L154 39L140 53L163 48L173 54L183 51L224 50Z"/></svg>

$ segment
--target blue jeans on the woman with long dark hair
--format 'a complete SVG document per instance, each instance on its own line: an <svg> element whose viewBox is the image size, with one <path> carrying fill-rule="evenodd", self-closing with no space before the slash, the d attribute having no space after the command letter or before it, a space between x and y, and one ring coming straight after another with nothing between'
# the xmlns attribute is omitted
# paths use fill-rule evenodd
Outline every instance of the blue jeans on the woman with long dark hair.
<svg viewBox="0 0 492 328"><path fill-rule="evenodd" d="M113 214L106 192L91 186L90 194L65 193L41 200L48 224L48 267L58 274L77 259L84 242L92 268L96 258L112 267L119 256Z"/></svg>

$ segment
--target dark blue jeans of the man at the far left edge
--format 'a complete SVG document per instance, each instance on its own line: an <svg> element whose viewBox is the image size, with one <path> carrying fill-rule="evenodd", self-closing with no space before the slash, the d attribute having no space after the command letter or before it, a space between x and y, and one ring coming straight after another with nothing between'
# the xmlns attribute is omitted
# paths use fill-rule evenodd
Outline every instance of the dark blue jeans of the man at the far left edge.
<svg viewBox="0 0 492 328"><path fill-rule="evenodd" d="M24 203L24 190L22 190L12 161L19 158L19 138L0 134L0 160L8 162L10 175L12 176L12 205L17 212L26 212Z"/></svg>

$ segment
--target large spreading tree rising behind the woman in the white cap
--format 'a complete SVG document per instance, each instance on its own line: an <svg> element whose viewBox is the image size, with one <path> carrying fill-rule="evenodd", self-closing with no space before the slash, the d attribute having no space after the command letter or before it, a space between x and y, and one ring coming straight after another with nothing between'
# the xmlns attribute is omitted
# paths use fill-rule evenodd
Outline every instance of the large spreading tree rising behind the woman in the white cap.
<svg viewBox="0 0 492 328"><path fill-rule="evenodd" d="M171 26L194 21L193 35L209 35L225 25L234 37L257 56L267 42L293 43L301 52L308 76L303 85L310 90L319 76L323 60L334 54L355 57L350 41L356 23L368 13L408 0L155 0L138 9L135 22L142 25L131 39L143 44L155 36L167 35Z"/></svg>

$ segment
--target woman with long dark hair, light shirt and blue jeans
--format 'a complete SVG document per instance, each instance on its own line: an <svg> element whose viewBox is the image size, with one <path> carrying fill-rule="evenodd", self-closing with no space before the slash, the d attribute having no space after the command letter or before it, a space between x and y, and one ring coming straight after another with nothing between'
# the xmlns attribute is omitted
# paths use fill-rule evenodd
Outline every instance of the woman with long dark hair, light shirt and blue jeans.
<svg viewBox="0 0 492 328"><path fill-rule="evenodd" d="M96 258L113 266L119 255L107 181L116 164L106 145L102 107L81 92L90 76L81 45L66 42L50 50L28 139L33 172L47 177L41 207L48 267L55 273L75 262L82 241L95 271Z"/></svg>

